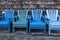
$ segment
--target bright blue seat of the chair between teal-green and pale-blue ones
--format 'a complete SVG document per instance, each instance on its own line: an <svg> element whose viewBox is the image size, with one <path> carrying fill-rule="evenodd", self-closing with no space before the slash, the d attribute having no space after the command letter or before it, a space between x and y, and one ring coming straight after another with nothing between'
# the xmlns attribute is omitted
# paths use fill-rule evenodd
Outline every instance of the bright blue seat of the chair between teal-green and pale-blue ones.
<svg viewBox="0 0 60 40"><path fill-rule="evenodd" d="M30 28L31 29L42 29L42 28L46 28L45 25L46 23L43 23L41 21L32 21L30 23Z"/></svg>

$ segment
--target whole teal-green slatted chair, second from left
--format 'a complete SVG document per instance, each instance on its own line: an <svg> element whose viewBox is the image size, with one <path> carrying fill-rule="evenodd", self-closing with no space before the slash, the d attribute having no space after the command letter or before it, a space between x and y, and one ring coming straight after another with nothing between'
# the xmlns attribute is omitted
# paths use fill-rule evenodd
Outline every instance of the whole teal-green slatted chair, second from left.
<svg viewBox="0 0 60 40"><path fill-rule="evenodd" d="M13 20L13 32L15 28L26 28L28 31L28 10L17 10L18 15L14 16Z"/></svg>

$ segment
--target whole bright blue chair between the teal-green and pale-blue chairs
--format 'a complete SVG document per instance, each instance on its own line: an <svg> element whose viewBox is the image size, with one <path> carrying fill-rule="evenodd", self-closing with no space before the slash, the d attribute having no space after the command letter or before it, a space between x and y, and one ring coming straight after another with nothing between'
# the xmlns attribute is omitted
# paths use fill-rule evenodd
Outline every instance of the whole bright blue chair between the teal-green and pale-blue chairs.
<svg viewBox="0 0 60 40"><path fill-rule="evenodd" d="M43 10L40 9L32 10L32 15L29 20L29 33L31 33L31 29L43 29L44 35L46 34L46 22L42 13Z"/></svg>

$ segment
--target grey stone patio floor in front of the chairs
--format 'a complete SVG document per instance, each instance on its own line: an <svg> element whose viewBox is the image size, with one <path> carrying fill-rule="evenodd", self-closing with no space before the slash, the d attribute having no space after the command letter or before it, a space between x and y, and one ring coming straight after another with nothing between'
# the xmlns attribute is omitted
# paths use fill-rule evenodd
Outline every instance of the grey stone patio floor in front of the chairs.
<svg viewBox="0 0 60 40"><path fill-rule="evenodd" d="M34 32L32 34L28 34L25 31L16 31L12 33L8 33L6 30L0 30L0 40L60 40L60 33L52 33L52 35L46 36L43 33Z"/></svg>

